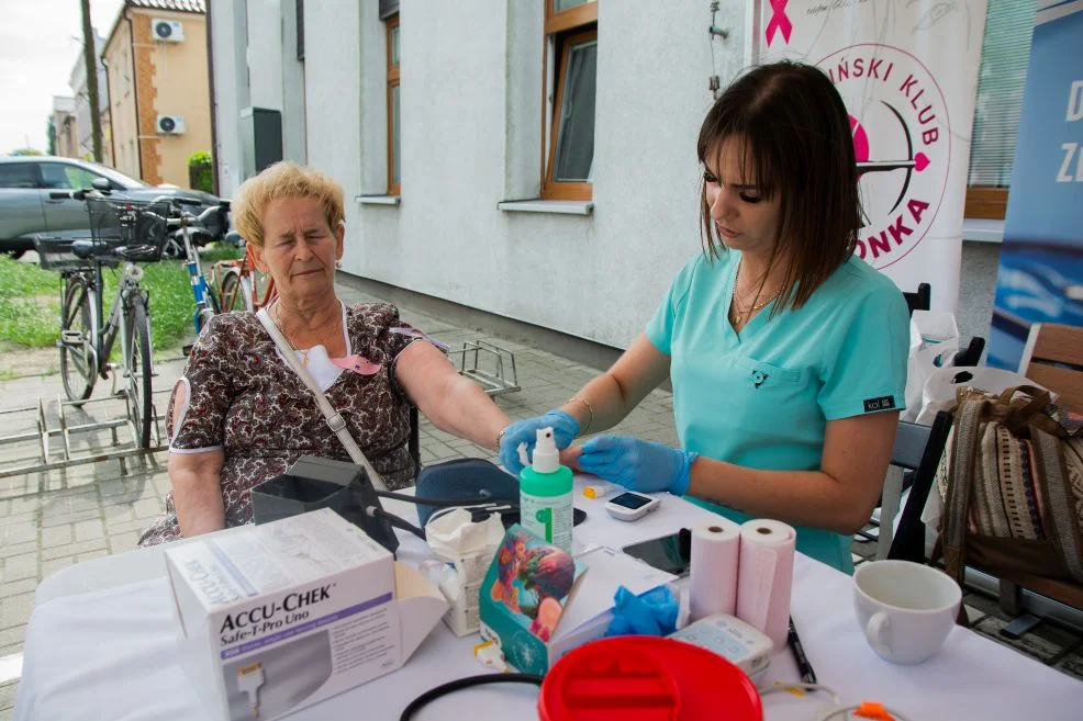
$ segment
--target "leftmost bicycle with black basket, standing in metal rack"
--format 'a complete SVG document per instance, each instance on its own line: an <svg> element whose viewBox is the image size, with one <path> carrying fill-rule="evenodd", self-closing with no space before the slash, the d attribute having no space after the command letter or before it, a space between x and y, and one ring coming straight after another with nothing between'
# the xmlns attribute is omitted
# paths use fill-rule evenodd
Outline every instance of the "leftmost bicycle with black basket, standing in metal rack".
<svg viewBox="0 0 1083 721"><path fill-rule="evenodd" d="M150 359L150 308L147 291L139 285L137 263L161 258L169 203L110 200L101 189L54 191L53 199L72 198L87 204L91 238L37 236L34 245L43 268L60 272L60 380L68 399L81 405L90 398L99 378L109 380L116 368L109 362L120 336L121 376L133 437L139 448L150 447L154 420ZM109 317L103 319L102 268L123 261ZM114 388L116 378L113 378Z"/></svg>

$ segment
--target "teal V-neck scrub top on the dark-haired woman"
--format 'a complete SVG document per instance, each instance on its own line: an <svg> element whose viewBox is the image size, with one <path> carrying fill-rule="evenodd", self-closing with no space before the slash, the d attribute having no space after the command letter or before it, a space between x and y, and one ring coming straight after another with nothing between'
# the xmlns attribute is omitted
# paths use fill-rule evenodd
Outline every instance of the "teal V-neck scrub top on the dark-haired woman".
<svg viewBox="0 0 1083 721"><path fill-rule="evenodd" d="M909 314L895 284L851 257L800 309L729 323L738 251L691 260L647 338L670 356L681 446L736 465L818 471L828 420L904 407ZM749 517L689 498L741 523ZM797 527L797 550L846 573L850 537Z"/></svg>

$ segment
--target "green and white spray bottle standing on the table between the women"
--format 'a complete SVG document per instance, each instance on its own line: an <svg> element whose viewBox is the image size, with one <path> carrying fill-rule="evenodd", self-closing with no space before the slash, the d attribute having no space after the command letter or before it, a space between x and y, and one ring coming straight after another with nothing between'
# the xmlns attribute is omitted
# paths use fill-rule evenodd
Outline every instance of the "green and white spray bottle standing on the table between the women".
<svg viewBox="0 0 1083 721"><path fill-rule="evenodd" d="M524 443L523 447L526 444ZM521 458L526 454L521 447ZM534 464L523 463L518 474L520 518L523 527L571 553L571 469L560 465L552 428L538 430Z"/></svg>

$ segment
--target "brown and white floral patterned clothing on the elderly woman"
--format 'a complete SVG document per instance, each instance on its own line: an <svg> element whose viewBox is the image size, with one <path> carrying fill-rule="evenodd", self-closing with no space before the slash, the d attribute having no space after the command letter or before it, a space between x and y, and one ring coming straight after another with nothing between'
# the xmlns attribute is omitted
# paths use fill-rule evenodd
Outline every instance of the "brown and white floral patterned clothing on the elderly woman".
<svg viewBox="0 0 1083 721"><path fill-rule="evenodd" d="M344 371L326 390L327 399L388 487L402 488L413 483L416 470L407 448L410 401L395 382L394 362L423 335L388 303L357 305L344 316L349 352L381 368L371 375ZM253 313L214 316L196 341L180 383L188 385L189 403L174 424L169 402L169 451L225 452L220 483L226 528L249 522L250 489L302 455L350 460L312 393ZM166 516L144 531L139 545L180 536L170 493Z"/></svg>

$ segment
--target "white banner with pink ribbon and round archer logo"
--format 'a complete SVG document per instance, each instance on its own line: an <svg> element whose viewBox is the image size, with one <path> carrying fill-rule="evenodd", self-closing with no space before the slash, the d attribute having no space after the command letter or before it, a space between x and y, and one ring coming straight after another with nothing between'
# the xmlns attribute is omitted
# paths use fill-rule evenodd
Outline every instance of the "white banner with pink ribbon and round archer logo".
<svg viewBox="0 0 1083 721"><path fill-rule="evenodd" d="M801 60L850 111L858 252L954 312L985 0L752 0L752 59Z"/></svg>

